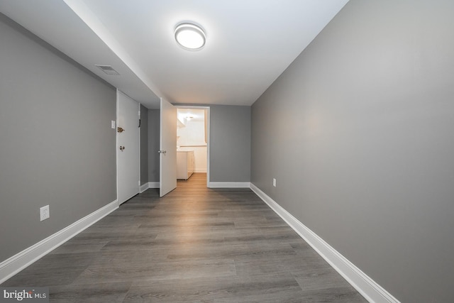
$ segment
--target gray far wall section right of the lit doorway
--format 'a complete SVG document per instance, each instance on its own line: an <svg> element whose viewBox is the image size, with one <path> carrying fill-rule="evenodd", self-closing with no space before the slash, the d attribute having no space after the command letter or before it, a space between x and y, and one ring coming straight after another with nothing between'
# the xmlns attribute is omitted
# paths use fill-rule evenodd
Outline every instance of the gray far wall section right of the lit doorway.
<svg viewBox="0 0 454 303"><path fill-rule="evenodd" d="M210 105L210 182L250 182L250 106Z"/></svg>

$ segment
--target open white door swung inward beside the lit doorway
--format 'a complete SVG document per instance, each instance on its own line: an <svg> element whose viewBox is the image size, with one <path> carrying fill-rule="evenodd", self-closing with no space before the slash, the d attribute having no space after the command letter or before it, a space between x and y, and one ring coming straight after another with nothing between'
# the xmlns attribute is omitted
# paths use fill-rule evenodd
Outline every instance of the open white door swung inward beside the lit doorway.
<svg viewBox="0 0 454 303"><path fill-rule="evenodd" d="M161 98L159 195L177 187L177 109Z"/></svg>

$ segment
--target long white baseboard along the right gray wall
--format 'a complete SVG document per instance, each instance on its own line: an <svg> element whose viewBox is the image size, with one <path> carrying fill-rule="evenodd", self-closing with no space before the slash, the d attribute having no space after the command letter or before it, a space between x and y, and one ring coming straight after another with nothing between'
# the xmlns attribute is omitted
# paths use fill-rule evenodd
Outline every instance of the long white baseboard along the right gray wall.
<svg viewBox="0 0 454 303"><path fill-rule="evenodd" d="M322 238L316 235L309 228L304 226L298 221L292 214L282 208L273 199L267 196L265 192L256 187L254 184L250 184L250 189L260 197L268 206L271 207L276 214L278 214L290 227L296 231L301 238L304 239L309 245L316 250L323 259L326 260L337 272L339 272L350 285L355 287L360 294L369 302L389 302L399 303L399 300L394 298L392 294L389 294L383 287L377 284L374 280L368 277L364 272L357 268L341 253L332 248L328 243L323 241Z"/></svg>

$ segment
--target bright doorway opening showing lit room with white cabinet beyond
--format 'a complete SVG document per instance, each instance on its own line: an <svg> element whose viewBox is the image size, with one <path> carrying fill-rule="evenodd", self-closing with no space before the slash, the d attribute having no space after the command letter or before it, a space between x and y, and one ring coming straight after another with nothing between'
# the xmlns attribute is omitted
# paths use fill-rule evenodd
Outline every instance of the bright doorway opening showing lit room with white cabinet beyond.
<svg viewBox="0 0 454 303"><path fill-rule="evenodd" d="M206 174L209 184L209 107L177 107L177 179Z"/></svg>

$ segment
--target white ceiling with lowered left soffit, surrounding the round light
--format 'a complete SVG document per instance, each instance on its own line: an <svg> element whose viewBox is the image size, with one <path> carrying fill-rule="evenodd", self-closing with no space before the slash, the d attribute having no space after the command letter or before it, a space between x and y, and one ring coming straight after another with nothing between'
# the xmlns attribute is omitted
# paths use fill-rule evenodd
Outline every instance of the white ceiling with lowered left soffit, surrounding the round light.
<svg viewBox="0 0 454 303"><path fill-rule="evenodd" d="M0 0L0 11L149 108L251 105L348 0ZM187 51L175 26L206 45ZM104 75L111 65L121 76Z"/></svg>

